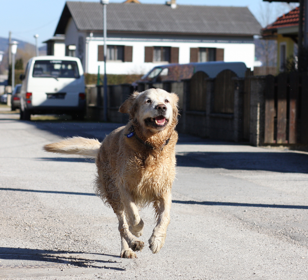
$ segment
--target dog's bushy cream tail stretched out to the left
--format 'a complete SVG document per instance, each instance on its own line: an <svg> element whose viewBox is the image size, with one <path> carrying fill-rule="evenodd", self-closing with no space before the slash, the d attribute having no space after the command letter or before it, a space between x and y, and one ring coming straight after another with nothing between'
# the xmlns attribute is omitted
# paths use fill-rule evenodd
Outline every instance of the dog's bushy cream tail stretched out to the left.
<svg viewBox="0 0 308 280"><path fill-rule="evenodd" d="M73 137L44 145L43 150L57 154L79 154L87 159L96 159L100 144L97 139Z"/></svg>

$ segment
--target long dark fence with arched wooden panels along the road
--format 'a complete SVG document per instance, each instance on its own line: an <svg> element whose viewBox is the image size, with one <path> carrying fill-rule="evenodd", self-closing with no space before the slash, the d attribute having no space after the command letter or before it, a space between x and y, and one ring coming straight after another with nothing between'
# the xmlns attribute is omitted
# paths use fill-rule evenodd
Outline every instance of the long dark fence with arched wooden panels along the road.
<svg viewBox="0 0 308 280"><path fill-rule="evenodd" d="M178 94L179 132L256 146L308 144L308 73L253 76L248 69L237 77L223 70L215 78L196 72L181 82L108 86L108 120L126 122L120 105L134 90L148 88ZM87 90L88 119L102 120L102 101L101 87Z"/></svg>

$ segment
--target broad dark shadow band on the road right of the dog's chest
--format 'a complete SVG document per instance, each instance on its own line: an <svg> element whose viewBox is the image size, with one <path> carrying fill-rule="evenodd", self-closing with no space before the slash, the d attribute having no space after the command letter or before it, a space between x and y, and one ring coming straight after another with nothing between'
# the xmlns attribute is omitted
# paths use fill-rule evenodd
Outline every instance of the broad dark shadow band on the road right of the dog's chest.
<svg viewBox="0 0 308 280"><path fill-rule="evenodd" d="M177 166L308 173L308 154L292 152L177 153Z"/></svg>

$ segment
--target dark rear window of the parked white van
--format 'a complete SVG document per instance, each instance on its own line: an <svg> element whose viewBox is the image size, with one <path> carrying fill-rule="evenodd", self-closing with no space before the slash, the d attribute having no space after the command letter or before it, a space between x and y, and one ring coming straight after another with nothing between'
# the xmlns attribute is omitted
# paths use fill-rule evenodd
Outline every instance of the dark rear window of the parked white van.
<svg viewBox="0 0 308 280"><path fill-rule="evenodd" d="M79 78L76 61L69 60L36 60L32 77Z"/></svg>

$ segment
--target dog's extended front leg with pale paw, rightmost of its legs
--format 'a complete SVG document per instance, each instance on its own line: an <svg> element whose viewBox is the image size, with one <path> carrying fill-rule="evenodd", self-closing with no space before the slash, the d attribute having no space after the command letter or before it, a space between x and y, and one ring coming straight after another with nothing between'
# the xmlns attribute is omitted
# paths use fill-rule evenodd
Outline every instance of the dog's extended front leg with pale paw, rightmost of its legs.
<svg viewBox="0 0 308 280"><path fill-rule="evenodd" d="M158 253L165 243L166 231L170 222L171 192L166 193L162 199L156 200L154 208L158 218L156 227L149 239L149 248L153 254Z"/></svg>

